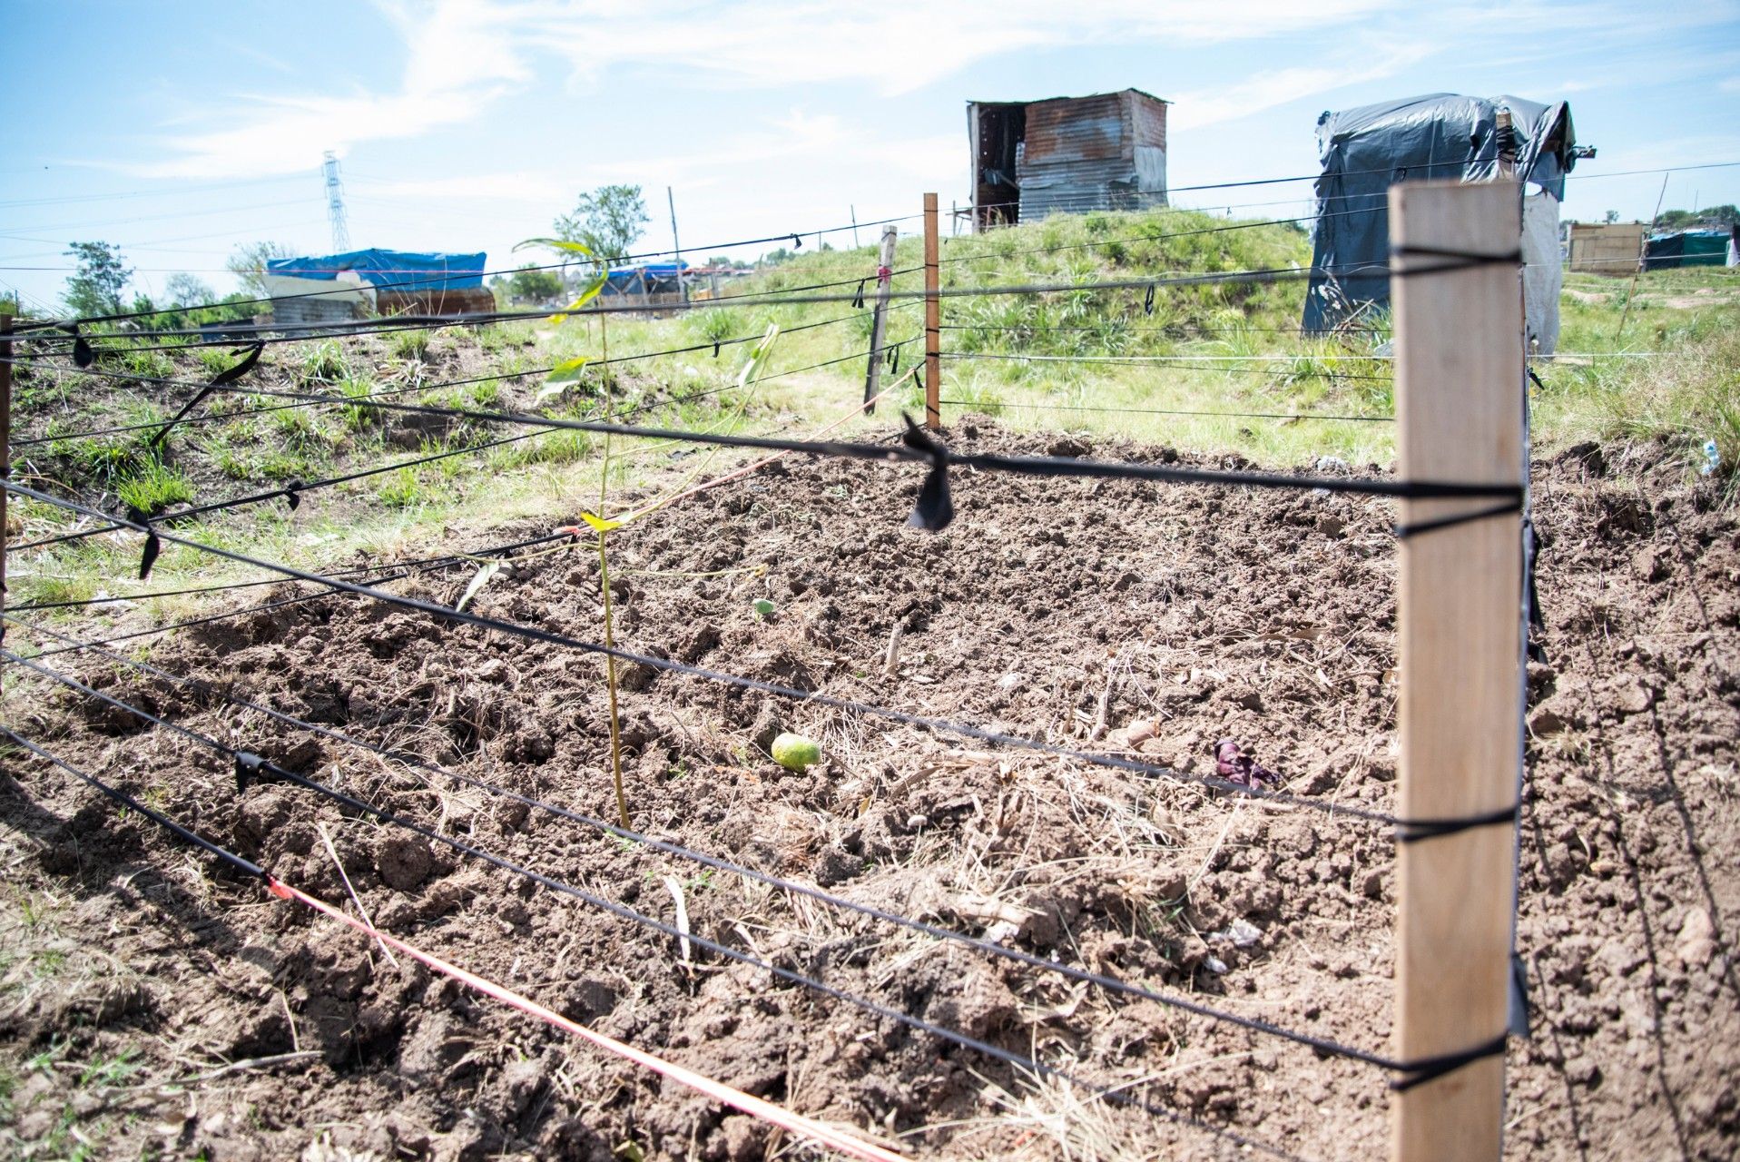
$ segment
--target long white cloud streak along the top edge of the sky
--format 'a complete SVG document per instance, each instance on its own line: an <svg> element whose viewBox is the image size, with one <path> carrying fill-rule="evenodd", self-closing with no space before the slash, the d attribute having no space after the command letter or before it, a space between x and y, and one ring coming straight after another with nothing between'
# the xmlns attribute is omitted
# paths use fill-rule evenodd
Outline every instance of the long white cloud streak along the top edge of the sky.
<svg viewBox="0 0 1740 1162"><path fill-rule="evenodd" d="M233 127L171 134L158 160L129 169L146 177L304 170L324 150L345 155L358 143L412 139L475 120L531 82L538 56L555 56L588 87L633 66L698 89L861 82L898 94L1021 49L1268 38L1354 21L1383 3L1253 0L1220 10L1183 0L1107 0L1070 10L1053 0L1004 0L988 16L966 3L847 0L381 0L405 43L397 90L346 89L336 80L294 96L245 94Z"/></svg>

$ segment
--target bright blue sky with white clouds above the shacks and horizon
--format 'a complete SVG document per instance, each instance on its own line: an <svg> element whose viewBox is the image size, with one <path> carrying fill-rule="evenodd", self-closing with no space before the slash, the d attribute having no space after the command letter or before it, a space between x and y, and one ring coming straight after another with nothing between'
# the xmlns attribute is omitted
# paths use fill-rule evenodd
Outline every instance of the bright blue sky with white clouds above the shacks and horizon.
<svg viewBox="0 0 1740 1162"><path fill-rule="evenodd" d="M646 188L646 249L670 245L666 186L686 250L912 214L926 190L966 202L971 97L1166 97L1173 186L1308 174L1322 110L1437 90L1568 99L1599 148L1568 186L1575 217L1655 209L1660 174L1599 174L1740 162L1730 0L0 0L0 14L16 94L0 292L38 306L63 289L68 240L122 244L144 290L183 270L231 289L238 242L329 250L324 150L343 158L353 245L489 250L492 268L600 183ZM1740 202L1740 167L1667 181L1669 207ZM1176 202L1289 216L1307 191Z"/></svg>

